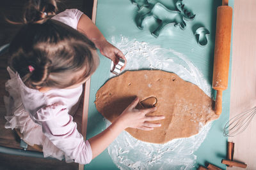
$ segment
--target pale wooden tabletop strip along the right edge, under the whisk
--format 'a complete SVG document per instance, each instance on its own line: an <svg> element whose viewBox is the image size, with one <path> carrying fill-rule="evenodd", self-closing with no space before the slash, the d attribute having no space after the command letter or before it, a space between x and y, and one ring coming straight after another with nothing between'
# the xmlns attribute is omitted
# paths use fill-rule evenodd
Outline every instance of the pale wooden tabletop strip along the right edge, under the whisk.
<svg viewBox="0 0 256 170"><path fill-rule="evenodd" d="M235 0L233 15L230 118L256 106L256 1ZM246 131L228 141L235 143L234 160L256 169L256 117ZM230 169L230 168L228 168ZM232 167L232 169L242 169Z"/></svg>

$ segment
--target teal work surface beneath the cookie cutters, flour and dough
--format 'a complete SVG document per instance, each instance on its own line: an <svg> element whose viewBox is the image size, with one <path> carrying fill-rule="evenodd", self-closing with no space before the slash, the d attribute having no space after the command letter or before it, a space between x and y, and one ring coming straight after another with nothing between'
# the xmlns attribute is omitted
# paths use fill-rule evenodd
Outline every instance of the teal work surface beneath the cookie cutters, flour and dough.
<svg viewBox="0 0 256 170"><path fill-rule="evenodd" d="M148 2L156 3L156 1ZM177 10L174 0L159 2L170 10ZM160 46L164 49L172 48L175 52L182 53L202 73L206 83L211 85L216 9L221 5L221 1L184 0L183 3L186 9L195 13L195 19L185 20L186 29L184 30L180 29L179 26L167 25L157 38L150 33L156 28L154 25L156 21L148 18L143 22L143 29L138 28L136 24L138 22L138 6L132 4L131 0L98 0L96 25L109 42L112 42L113 39L120 41L121 38L125 37L130 40L136 39L139 42L147 42L149 45ZM233 3L234 1L230 1L229 6L234 6ZM207 36L208 43L205 46L200 46L196 42L195 31L198 27L205 27L210 32L210 35ZM223 92L223 111L221 117L212 123L207 137L194 153L196 155L195 168L198 167L198 164L204 165L205 162L222 169L226 168L225 165L221 164L221 159L225 159L227 152L227 138L223 136L223 127L229 118L231 56L232 53L230 53L228 89ZM109 79L110 64L109 59L100 55L100 65L92 75L86 138L91 138L106 128L106 122L96 110L94 101L97 90ZM213 94L214 91L212 90L211 93ZM105 150L90 164L86 165L85 169L118 168L109 157L108 150Z"/></svg>

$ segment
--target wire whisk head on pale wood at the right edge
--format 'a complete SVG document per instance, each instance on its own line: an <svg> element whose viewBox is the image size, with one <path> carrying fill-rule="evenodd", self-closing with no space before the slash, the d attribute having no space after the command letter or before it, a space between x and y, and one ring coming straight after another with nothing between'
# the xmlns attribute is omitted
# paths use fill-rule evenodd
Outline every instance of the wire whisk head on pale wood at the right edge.
<svg viewBox="0 0 256 170"><path fill-rule="evenodd" d="M256 106L231 118L224 127L224 136L234 137L237 134L241 134L252 122L255 113Z"/></svg>

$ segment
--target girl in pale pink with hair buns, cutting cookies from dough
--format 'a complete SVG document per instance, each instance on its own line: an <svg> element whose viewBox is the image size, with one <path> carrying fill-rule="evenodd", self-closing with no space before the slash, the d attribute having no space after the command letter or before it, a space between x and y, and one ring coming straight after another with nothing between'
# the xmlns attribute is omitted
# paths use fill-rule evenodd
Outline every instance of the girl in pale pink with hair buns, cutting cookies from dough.
<svg viewBox="0 0 256 170"><path fill-rule="evenodd" d="M54 0L29 1L24 26L10 43L5 127L20 129L29 145L41 145L44 157L88 164L127 127L150 131L161 124L149 121L164 117L147 116L156 108L136 110L136 98L105 131L84 141L72 115L82 84L99 64L96 47L115 64L125 57L81 11L56 10Z"/></svg>

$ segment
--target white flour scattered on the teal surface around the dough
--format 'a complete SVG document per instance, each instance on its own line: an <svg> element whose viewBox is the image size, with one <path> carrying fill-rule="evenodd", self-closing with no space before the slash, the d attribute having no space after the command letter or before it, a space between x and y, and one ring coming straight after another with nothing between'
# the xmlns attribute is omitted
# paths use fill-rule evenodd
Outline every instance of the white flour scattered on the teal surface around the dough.
<svg viewBox="0 0 256 170"><path fill-rule="evenodd" d="M130 41L124 36L120 41L112 38L112 43L125 54L125 70L161 69L173 72L183 80L198 85L205 94L211 96L211 85L182 53L146 42ZM106 122L109 126L110 122ZM164 145L139 141L124 131L109 145L108 152L120 169L193 169L196 160L193 153L204 141L211 123L200 127L200 132L195 136L173 139Z"/></svg>

